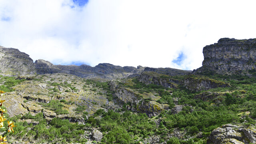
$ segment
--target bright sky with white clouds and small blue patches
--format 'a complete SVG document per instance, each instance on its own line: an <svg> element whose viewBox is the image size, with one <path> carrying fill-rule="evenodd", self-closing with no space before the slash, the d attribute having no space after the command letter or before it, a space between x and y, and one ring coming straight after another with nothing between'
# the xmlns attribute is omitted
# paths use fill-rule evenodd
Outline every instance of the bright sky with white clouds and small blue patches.
<svg viewBox="0 0 256 144"><path fill-rule="evenodd" d="M255 0L0 0L0 46L53 64L193 70L204 46L256 38Z"/></svg>

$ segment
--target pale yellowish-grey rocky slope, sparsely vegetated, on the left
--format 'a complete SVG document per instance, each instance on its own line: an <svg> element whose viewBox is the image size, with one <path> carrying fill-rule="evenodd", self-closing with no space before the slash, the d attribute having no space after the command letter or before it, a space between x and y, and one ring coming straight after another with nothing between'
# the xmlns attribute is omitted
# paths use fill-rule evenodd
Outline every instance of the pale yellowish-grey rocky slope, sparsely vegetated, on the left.
<svg viewBox="0 0 256 144"><path fill-rule="evenodd" d="M76 112L78 106L84 106L84 111L89 115L98 109L114 106L108 101L104 90L77 76L68 74L46 74L21 76L26 81L14 86L13 92L6 92L1 99L5 99L5 107L9 116L26 114L32 115L43 112L46 120L54 117L68 119L70 122L84 122L82 114ZM46 106L51 100L62 100L66 114L58 112Z"/></svg>

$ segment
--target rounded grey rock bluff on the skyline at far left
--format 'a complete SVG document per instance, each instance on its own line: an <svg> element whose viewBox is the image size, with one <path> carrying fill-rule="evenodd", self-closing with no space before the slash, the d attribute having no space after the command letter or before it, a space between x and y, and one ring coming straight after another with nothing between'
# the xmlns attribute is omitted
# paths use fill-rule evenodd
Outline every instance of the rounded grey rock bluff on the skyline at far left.
<svg viewBox="0 0 256 144"><path fill-rule="evenodd" d="M33 60L15 48L0 47L0 70L5 76L35 74Z"/></svg>

